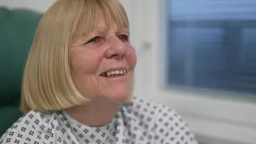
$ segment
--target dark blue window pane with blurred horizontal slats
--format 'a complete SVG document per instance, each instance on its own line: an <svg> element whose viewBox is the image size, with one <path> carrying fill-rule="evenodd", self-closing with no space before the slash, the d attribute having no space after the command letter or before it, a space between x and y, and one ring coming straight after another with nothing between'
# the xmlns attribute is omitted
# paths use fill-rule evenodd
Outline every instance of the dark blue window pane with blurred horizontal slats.
<svg viewBox="0 0 256 144"><path fill-rule="evenodd" d="M167 3L167 84L256 94L256 2Z"/></svg>

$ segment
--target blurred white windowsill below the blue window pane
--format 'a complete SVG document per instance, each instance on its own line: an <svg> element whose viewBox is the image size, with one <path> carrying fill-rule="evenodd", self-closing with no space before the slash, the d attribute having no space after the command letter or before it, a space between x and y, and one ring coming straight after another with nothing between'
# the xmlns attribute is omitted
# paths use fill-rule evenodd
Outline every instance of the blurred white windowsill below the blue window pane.
<svg viewBox="0 0 256 144"><path fill-rule="evenodd" d="M151 98L177 110L197 134L238 143L256 141L255 103L214 98L209 92L201 96L178 90L156 93Z"/></svg>

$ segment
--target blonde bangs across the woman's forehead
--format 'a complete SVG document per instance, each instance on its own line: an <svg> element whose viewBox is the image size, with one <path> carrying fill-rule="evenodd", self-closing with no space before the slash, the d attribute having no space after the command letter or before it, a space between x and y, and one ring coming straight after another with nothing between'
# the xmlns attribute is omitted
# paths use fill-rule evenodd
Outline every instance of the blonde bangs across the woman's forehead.
<svg viewBox="0 0 256 144"><path fill-rule="evenodd" d="M117 0L89 0L82 1L79 6L78 35L89 35L99 23L100 15L105 19L106 27L110 29L113 23L118 28L129 28L124 7ZM90 6L88 6L90 5ZM79 27L80 26L80 27Z"/></svg>

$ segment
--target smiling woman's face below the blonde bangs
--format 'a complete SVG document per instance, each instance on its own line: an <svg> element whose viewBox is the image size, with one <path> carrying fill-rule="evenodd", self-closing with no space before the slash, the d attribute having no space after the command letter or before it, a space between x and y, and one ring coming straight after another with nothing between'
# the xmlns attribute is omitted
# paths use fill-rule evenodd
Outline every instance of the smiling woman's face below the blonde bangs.
<svg viewBox="0 0 256 144"><path fill-rule="evenodd" d="M79 27L78 27L79 30ZM112 23L107 28L103 18L89 35L77 35L71 43L71 75L85 98L119 103L132 92L136 65L134 47L129 43L129 29Z"/></svg>

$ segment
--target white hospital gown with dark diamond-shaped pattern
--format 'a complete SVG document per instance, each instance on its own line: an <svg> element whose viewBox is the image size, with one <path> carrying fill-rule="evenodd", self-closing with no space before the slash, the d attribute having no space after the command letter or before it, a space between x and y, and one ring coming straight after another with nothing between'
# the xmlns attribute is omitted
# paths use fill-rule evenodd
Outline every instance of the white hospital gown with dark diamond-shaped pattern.
<svg viewBox="0 0 256 144"><path fill-rule="evenodd" d="M0 138L0 144L197 144L188 125L173 109L134 97L111 121L90 127L71 118L65 110L43 114L31 110Z"/></svg>

